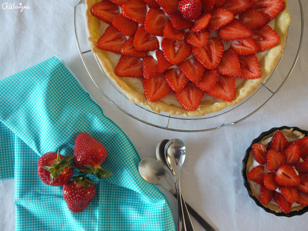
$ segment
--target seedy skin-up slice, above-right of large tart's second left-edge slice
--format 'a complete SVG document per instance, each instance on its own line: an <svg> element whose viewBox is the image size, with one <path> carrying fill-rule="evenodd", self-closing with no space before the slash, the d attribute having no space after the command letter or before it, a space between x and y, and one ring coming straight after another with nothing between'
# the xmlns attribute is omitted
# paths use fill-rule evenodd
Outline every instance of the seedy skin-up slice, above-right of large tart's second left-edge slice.
<svg viewBox="0 0 308 231"><path fill-rule="evenodd" d="M134 35L138 29L138 23L124 17L122 14L113 18L112 25L126 36Z"/></svg>

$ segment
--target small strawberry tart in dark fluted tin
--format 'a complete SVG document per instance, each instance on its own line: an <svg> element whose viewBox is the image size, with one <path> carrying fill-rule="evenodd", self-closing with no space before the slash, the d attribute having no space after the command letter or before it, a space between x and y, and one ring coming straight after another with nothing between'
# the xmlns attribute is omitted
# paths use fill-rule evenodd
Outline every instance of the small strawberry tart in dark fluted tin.
<svg viewBox="0 0 308 231"><path fill-rule="evenodd" d="M294 216L308 210L307 134L297 127L273 128L247 149L245 186L266 211Z"/></svg>

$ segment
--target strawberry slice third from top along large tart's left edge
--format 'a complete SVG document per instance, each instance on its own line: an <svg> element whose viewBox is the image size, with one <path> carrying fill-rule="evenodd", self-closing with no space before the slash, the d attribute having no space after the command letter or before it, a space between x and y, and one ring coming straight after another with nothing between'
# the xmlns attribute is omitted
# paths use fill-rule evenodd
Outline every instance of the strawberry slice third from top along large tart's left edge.
<svg viewBox="0 0 308 231"><path fill-rule="evenodd" d="M120 77L140 78L143 76L142 61L137 57L122 54L114 71Z"/></svg>

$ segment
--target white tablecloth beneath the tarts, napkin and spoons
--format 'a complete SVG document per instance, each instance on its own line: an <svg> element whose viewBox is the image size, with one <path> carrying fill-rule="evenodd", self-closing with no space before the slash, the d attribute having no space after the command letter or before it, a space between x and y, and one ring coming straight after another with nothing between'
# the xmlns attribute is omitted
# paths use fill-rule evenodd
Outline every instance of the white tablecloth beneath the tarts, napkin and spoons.
<svg viewBox="0 0 308 231"><path fill-rule="evenodd" d="M181 188L191 207L213 224L216 230L306 230L308 213L292 218L266 213L248 197L241 176L241 161L245 150L259 134L272 127L297 126L308 130L307 24L299 59L283 87L261 110L235 125L206 132L177 132L141 123L114 107L90 80L82 63L74 32L74 6L78 1L7 1L0 8L0 80L18 71L58 55L74 72L105 114L118 124L136 146L141 158L155 158L156 145L162 139L179 138L186 144L187 155L181 173ZM292 1L290 1L292 2ZM293 4L298 6L296 0ZM29 9L8 9L7 6L29 6ZM303 12L308 2L302 1ZM80 39L86 41L85 4L78 6ZM298 11L297 11L298 12ZM300 25L300 16L290 12L292 28ZM292 15L294 14L294 15ZM295 15L296 14L296 15ZM288 37L287 45L297 49L299 33ZM82 45L83 50L88 44ZM290 48L289 48L290 49ZM293 52L293 54L296 54ZM293 63L295 56L283 57ZM290 67L279 67L278 75L286 76ZM94 71L95 72L95 71ZM95 72L96 74L97 72ZM119 96L121 97L121 96ZM117 98L117 96L116 96ZM121 98L119 98L121 99ZM246 103L242 118L254 103ZM132 105L133 106L133 105ZM143 112L146 113L147 112ZM234 122L226 117L225 122ZM164 122L163 122L164 123ZM193 121L194 127L203 126ZM214 124L213 127L220 124ZM185 125L183 125L185 126ZM210 125L206 125L210 127ZM185 128L185 127L184 127ZM172 213L177 216L176 200L166 194ZM0 229L14 230L14 180L0 181ZM194 219L195 230L204 230Z"/></svg>

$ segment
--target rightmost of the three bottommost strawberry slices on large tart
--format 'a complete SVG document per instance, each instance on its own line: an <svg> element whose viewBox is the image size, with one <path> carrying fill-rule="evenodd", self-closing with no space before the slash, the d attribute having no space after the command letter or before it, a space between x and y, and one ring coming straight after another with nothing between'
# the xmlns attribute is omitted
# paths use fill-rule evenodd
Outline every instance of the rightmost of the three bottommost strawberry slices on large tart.
<svg viewBox="0 0 308 231"><path fill-rule="evenodd" d="M234 77L218 74L216 85L207 93L224 101L233 101L236 93Z"/></svg>

